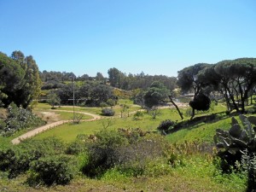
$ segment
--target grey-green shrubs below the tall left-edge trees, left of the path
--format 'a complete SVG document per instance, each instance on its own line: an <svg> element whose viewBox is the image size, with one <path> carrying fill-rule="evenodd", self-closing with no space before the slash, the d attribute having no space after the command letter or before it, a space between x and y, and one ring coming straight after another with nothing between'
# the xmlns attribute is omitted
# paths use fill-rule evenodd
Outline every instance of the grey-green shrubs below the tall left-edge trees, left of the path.
<svg viewBox="0 0 256 192"><path fill-rule="evenodd" d="M17 108L15 103L11 103L7 110L7 118L5 119L6 126L1 130L4 136L10 136L15 131L22 129L44 125L44 120L25 108Z"/></svg>

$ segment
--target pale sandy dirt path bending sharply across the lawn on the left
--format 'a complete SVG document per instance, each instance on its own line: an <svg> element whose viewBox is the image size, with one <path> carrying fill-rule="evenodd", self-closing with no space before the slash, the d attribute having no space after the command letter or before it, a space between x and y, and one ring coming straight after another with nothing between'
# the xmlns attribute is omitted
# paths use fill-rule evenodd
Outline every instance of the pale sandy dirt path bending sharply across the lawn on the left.
<svg viewBox="0 0 256 192"><path fill-rule="evenodd" d="M73 111L66 111L66 110L55 110L55 111L59 111L59 112L67 112L67 113L73 113ZM86 115L90 115L92 116L92 119L84 119L84 120L81 120L81 121L93 121L93 120L96 120L96 119L101 119L102 117L100 115L97 115L97 114L92 114L92 113L86 113L86 112L76 112L76 113L82 113L82 114L86 114ZM67 124L69 122L73 122L73 120L60 120L60 121L57 121L57 122L54 122L54 123L50 123L48 125L44 125L44 126L40 126L38 127L37 129L34 129L32 131L28 131L26 132L25 134L21 135L20 137L16 137L15 139L13 139L11 142L13 144L19 144L20 141L26 139L26 138L30 138L30 137L34 137L35 135L37 135L38 133L40 132L43 132L43 131L46 131L46 130L49 130L51 128L54 128L56 126L60 126L60 125L63 125L63 124Z"/></svg>

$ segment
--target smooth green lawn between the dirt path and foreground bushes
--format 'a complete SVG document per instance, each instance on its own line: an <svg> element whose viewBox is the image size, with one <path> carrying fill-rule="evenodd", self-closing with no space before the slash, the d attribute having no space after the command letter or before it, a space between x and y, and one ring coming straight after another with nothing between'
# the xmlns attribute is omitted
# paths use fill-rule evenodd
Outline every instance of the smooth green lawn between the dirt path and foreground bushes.
<svg viewBox="0 0 256 192"><path fill-rule="evenodd" d="M96 121L90 122L82 122L77 125L73 124L65 124L54 129L45 131L34 137L34 139L42 139L45 137L59 137L63 141L71 142L73 141L79 134L94 134L96 131L107 127L110 130L117 130L119 128L141 128L143 131L156 131L160 122L164 119L170 119L172 115L172 119L178 120L180 117L177 113L173 113L170 109L161 109L161 115L157 116L156 119L152 119L152 116L144 113L143 117L140 119L134 119L133 115L126 118L104 118L98 119Z"/></svg>

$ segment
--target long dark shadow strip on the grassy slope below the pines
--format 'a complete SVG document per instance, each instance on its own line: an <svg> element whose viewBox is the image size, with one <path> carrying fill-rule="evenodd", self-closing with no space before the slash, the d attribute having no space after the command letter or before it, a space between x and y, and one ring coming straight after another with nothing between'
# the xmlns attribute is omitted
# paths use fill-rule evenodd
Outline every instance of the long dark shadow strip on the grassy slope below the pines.
<svg viewBox="0 0 256 192"><path fill-rule="evenodd" d="M230 113L229 115L227 115L225 112L220 112L195 117L194 119L184 120L174 125L172 129L166 131L166 134L171 134L173 132L180 131L183 129L195 129L199 127L201 123L214 123L221 119L228 119L234 115L234 113Z"/></svg>

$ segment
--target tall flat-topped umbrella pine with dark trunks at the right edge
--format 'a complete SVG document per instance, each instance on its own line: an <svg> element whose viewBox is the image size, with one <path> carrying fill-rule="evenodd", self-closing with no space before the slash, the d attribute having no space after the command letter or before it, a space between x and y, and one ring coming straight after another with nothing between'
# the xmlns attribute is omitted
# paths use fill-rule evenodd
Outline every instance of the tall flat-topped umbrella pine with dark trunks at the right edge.
<svg viewBox="0 0 256 192"><path fill-rule="evenodd" d="M231 100L237 112L244 113L248 93L256 84L256 59L220 61L215 67L215 72L219 76L219 84L226 95L226 100Z"/></svg>

